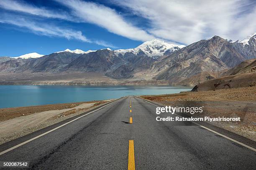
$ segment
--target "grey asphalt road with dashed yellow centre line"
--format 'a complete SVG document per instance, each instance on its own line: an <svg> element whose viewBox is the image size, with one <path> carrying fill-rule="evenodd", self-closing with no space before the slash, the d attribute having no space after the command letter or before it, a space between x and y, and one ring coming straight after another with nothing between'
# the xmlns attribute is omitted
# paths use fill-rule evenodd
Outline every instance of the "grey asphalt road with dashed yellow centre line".
<svg viewBox="0 0 256 170"><path fill-rule="evenodd" d="M25 161L40 170L256 168L255 151L187 122L157 122L156 116L156 105L124 97L0 155L0 161ZM0 152L63 124L0 145Z"/></svg>

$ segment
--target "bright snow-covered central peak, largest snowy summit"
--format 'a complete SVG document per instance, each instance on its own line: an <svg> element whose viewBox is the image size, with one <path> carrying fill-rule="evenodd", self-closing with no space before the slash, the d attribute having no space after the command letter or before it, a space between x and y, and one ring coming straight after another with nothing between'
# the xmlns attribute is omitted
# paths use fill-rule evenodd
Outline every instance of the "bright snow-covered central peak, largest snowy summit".
<svg viewBox="0 0 256 170"><path fill-rule="evenodd" d="M118 54L124 55L126 52L132 52L134 54L138 54L138 52L143 51L149 57L157 58L159 56L166 54L167 52L172 53L183 47L185 47L185 45L168 44L164 41L155 39L151 41L146 41L136 48L120 49L120 50L114 50L114 51L117 55Z"/></svg>

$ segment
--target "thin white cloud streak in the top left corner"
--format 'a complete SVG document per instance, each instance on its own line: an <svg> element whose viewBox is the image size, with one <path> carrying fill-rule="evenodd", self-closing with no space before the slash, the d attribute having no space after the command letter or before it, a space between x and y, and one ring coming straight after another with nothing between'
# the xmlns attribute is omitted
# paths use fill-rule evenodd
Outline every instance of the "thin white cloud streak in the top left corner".
<svg viewBox="0 0 256 170"><path fill-rule="evenodd" d="M63 20L72 20L72 17L63 11L51 11L44 7L36 7L26 2L14 1L14 0L0 0L0 7L6 10L13 10L22 13L29 13L32 15L38 15L46 18L59 18Z"/></svg>

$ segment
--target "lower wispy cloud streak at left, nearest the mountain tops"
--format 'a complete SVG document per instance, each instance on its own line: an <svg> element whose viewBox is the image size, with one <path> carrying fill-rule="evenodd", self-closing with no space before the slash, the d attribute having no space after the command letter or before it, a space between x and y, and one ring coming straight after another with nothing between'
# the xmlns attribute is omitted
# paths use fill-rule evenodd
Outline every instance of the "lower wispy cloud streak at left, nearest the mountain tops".
<svg viewBox="0 0 256 170"><path fill-rule="evenodd" d="M7 23L16 25L20 28L26 28L38 35L45 35L49 37L64 37L68 40L80 40L82 42L95 43L104 47L115 47L112 44L102 40L90 40L85 37L81 31L76 31L67 28L61 28L56 25L48 23L38 23L27 18L19 18L16 15L0 15L0 23Z"/></svg>

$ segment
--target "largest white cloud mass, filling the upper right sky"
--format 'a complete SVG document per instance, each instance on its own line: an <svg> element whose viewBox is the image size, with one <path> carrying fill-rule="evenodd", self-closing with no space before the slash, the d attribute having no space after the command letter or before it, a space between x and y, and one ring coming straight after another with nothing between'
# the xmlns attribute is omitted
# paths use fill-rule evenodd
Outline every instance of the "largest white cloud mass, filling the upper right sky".
<svg viewBox="0 0 256 170"><path fill-rule="evenodd" d="M256 5L249 0L113 0L150 21L152 35L190 44L212 35L241 39L255 32Z"/></svg>

